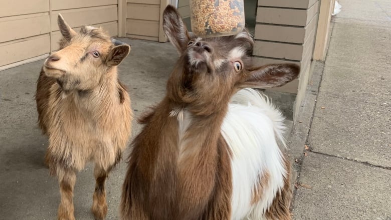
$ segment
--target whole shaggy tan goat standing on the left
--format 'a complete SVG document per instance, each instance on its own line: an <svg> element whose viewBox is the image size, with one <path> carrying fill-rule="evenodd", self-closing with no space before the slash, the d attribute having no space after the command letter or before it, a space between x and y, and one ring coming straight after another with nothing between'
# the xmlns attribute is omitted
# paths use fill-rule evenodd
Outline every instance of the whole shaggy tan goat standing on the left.
<svg viewBox="0 0 391 220"><path fill-rule="evenodd" d="M84 26L76 33L61 15L58 25L60 50L45 60L36 92L39 125L49 136L45 162L60 183L58 219L75 219L76 172L88 161L95 164L92 212L103 219L105 179L131 134L130 98L117 76L130 47L100 28Z"/></svg>

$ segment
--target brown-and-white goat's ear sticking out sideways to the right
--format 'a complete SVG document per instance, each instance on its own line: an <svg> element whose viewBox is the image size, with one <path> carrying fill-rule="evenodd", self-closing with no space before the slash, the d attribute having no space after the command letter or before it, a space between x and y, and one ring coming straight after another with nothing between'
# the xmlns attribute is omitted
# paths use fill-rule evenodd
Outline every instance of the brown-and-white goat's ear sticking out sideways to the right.
<svg viewBox="0 0 391 220"><path fill-rule="evenodd" d="M272 64L249 69L239 87L274 88L296 79L300 67L295 64Z"/></svg>

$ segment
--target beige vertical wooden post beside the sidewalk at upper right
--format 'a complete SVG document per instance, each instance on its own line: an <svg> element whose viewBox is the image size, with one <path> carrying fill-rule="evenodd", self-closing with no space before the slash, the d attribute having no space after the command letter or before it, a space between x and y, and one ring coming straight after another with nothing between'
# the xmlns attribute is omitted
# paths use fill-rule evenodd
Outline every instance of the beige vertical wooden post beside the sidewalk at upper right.
<svg viewBox="0 0 391 220"><path fill-rule="evenodd" d="M313 59L324 61L330 27L331 13L334 10L335 0L321 0L319 10L318 29L316 31Z"/></svg>

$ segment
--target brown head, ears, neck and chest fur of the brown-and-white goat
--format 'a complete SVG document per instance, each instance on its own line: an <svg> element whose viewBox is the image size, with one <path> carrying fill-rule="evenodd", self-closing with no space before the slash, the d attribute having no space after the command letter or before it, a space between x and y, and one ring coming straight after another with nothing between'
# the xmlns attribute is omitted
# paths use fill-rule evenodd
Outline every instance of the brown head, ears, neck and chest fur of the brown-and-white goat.
<svg viewBox="0 0 391 220"><path fill-rule="evenodd" d="M299 68L254 68L254 42L247 32L197 38L171 6L163 13L163 29L180 58L165 98L139 120L144 127L132 142L121 219L230 219L232 153L221 134L228 103L249 85L284 85L297 77ZM190 122L181 128L186 115ZM289 201L282 193L279 198L286 206ZM280 199L276 202L269 212L285 211Z"/></svg>

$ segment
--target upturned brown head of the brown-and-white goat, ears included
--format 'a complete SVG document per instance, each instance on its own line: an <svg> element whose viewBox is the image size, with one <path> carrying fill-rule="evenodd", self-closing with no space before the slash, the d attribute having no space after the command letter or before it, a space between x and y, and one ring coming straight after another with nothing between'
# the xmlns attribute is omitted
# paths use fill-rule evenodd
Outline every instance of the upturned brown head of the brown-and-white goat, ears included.
<svg viewBox="0 0 391 220"><path fill-rule="evenodd" d="M199 38L188 33L172 6L164 10L163 30L180 55L167 85L168 93L177 93L169 95L181 101L226 101L240 88L278 87L299 74L299 67L293 64L254 67L254 41L246 30L218 38Z"/></svg>

